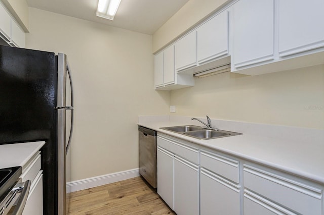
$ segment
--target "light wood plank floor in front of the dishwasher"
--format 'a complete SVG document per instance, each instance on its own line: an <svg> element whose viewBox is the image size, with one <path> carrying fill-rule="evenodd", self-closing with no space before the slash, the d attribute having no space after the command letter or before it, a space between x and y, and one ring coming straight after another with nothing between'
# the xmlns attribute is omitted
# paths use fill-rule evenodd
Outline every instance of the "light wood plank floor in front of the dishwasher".
<svg viewBox="0 0 324 215"><path fill-rule="evenodd" d="M70 193L69 215L176 214L141 177Z"/></svg>

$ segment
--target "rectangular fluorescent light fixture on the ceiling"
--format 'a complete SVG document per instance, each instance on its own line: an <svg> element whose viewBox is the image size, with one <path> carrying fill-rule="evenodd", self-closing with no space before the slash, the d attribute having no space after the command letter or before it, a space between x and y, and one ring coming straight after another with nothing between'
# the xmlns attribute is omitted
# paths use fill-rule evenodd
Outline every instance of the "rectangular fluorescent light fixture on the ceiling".
<svg viewBox="0 0 324 215"><path fill-rule="evenodd" d="M97 16L113 20L121 0L99 0Z"/></svg>

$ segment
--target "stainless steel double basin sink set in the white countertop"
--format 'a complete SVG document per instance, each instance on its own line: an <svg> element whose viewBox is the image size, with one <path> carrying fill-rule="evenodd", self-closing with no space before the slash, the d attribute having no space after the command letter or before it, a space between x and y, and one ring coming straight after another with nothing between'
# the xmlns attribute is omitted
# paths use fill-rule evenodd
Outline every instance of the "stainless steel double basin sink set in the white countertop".
<svg viewBox="0 0 324 215"><path fill-rule="evenodd" d="M203 139L203 140L209 140L209 139L220 138L220 137L229 137L229 136L235 136L241 134L232 131L212 130L206 127L200 127L194 125L164 127L160 129L176 132L189 137Z"/></svg>

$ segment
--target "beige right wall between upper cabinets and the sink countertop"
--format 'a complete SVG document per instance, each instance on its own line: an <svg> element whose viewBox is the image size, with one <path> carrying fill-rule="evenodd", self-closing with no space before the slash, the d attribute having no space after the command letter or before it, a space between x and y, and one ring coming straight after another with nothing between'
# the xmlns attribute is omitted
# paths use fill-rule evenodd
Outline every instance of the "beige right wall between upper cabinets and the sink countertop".
<svg viewBox="0 0 324 215"><path fill-rule="evenodd" d="M171 92L171 105L177 115L324 129L324 65L195 78L193 87Z"/></svg>

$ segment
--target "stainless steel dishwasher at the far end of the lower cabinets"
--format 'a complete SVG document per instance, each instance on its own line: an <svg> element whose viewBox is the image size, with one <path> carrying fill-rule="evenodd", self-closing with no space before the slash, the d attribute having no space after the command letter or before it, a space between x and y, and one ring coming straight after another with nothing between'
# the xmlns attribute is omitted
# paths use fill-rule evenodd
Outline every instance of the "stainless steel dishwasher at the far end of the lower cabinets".
<svg viewBox="0 0 324 215"><path fill-rule="evenodd" d="M141 176L156 188L156 131L139 126L139 172Z"/></svg>

